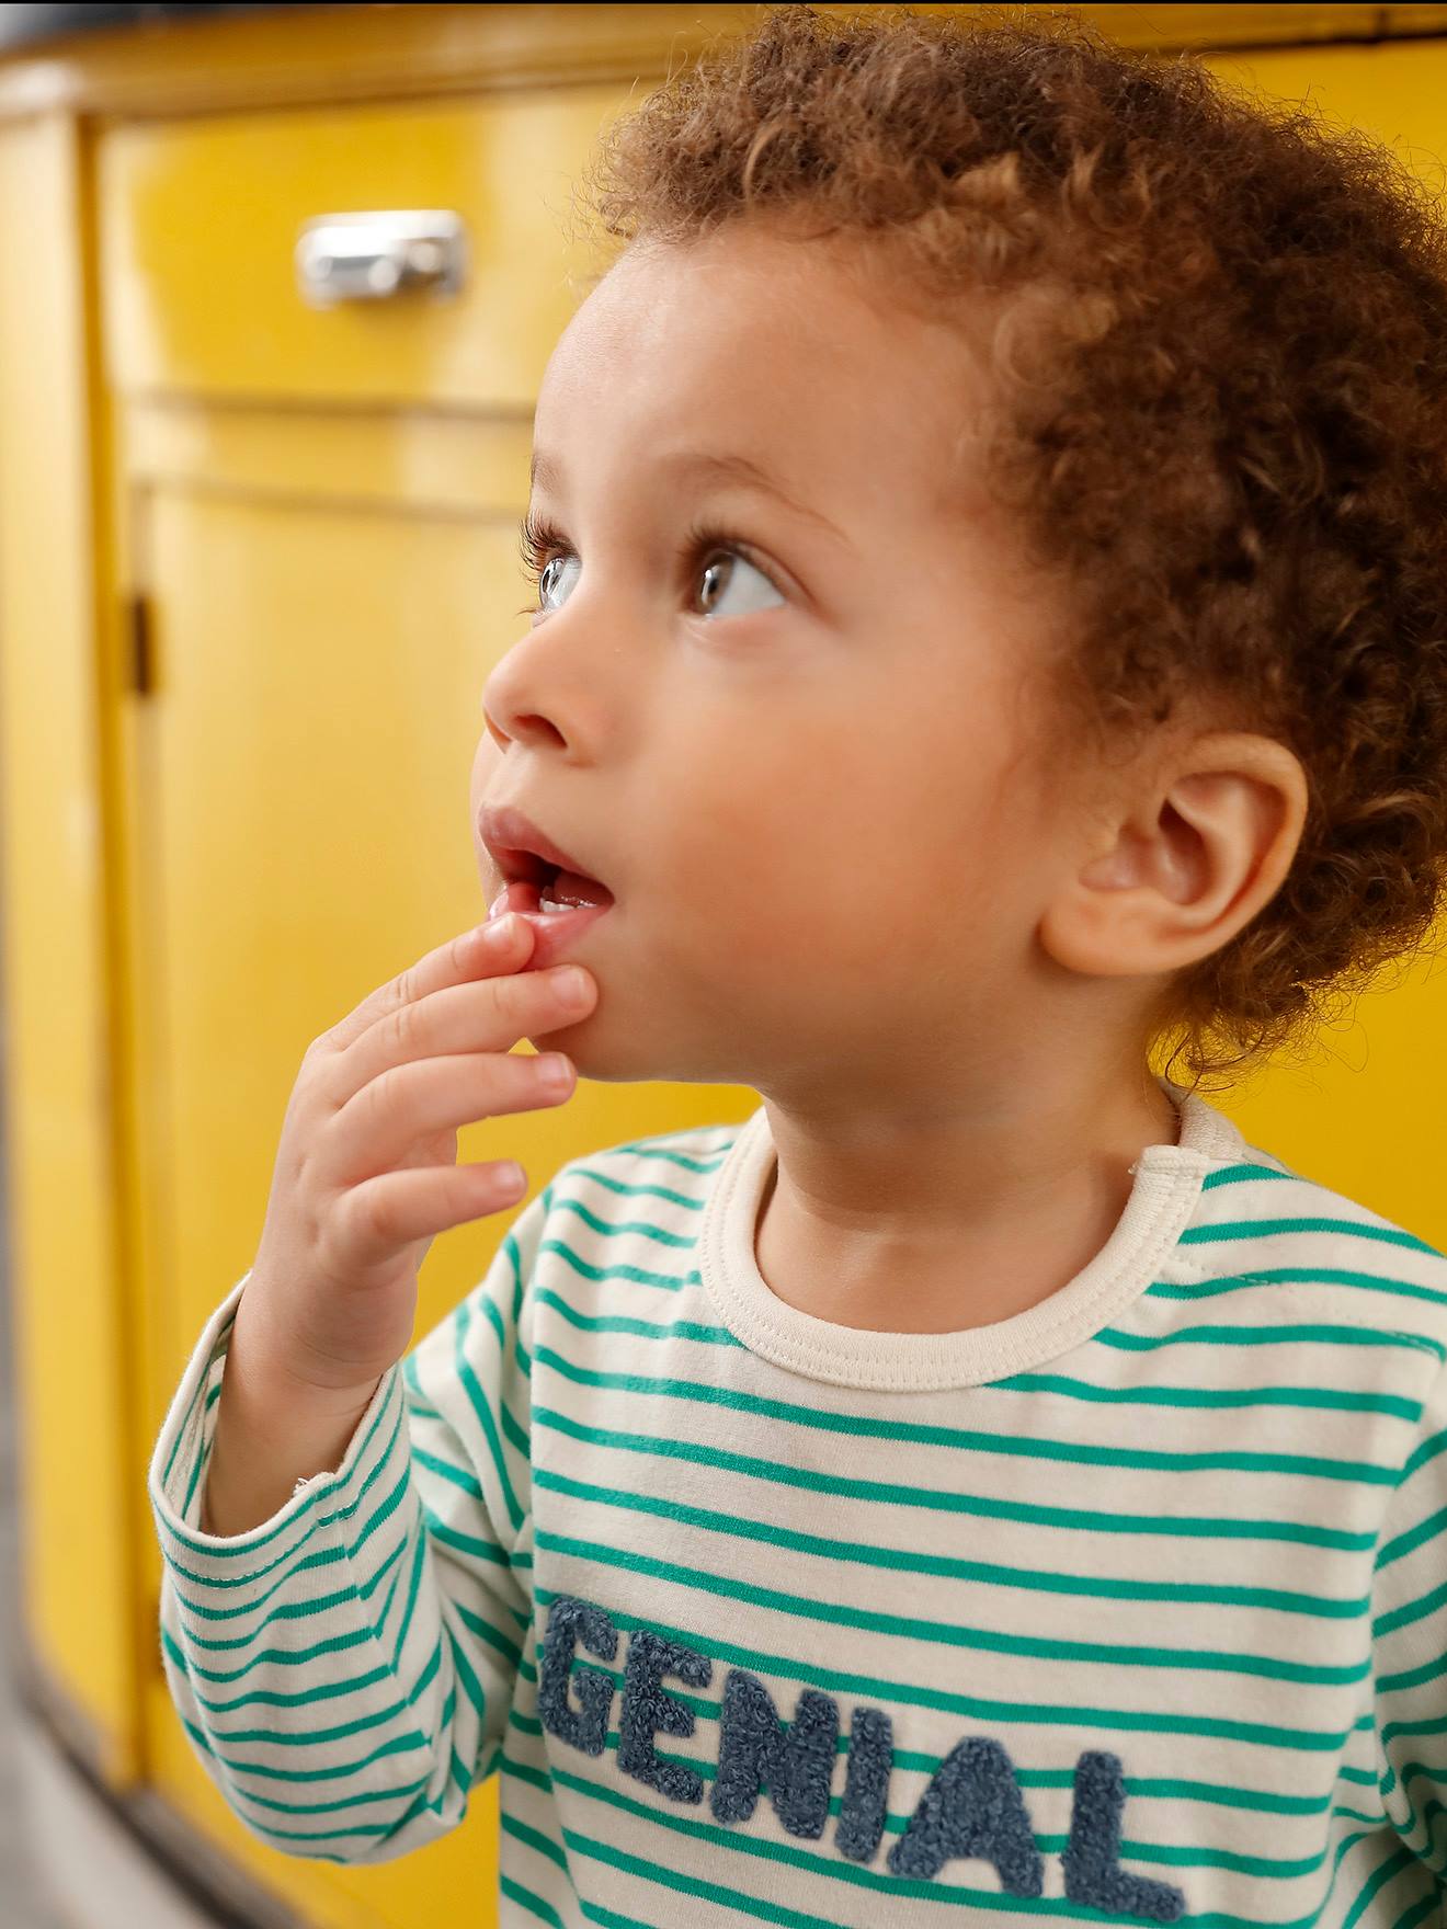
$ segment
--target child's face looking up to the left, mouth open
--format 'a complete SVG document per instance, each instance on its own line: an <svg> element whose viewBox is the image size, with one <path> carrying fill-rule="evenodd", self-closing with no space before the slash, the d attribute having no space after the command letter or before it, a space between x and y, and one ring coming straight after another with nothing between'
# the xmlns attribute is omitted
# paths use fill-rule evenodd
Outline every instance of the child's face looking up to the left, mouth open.
<svg viewBox="0 0 1447 1929"><path fill-rule="evenodd" d="M633 249L561 336L532 513L563 554L488 679L471 804L614 893L567 953L598 1003L548 1034L583 1076L947 1105L951 1063L1030 1042L1073 856L1030 737L1059 615L970 486L982 394L847 249L758 226ZM696 521L747 559L691 557Z"/></svg>

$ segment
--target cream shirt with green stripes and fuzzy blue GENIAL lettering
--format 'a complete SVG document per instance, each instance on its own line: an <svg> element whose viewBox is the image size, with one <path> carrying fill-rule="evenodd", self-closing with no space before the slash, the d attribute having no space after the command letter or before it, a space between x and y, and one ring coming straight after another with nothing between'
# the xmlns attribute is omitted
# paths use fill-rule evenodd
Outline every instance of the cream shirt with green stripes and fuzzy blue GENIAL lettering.
<svg viewBox="0 0 1447 1929"><path fill-rule="evenodd" d="M1104 1248L951 1333L768 1289L762 1107L573 1159L222 1537L243 1277L150 1466L235 1815L380 1861L498 1771L505 1925L1441 1923L1447 1258L1160 1082Z"/></svg>

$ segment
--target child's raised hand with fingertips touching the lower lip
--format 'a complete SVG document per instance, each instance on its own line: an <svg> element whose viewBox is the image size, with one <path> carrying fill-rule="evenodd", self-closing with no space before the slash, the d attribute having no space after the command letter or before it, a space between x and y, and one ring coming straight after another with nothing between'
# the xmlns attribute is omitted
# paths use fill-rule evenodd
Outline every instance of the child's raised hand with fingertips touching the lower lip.
<svg viewBox="0 0 1447 1929"><path fill-rule="evenodd" d="M457 1165L457 1127L558 1105L546 1053L509 1047L585 1019L598 984L523 970L532 928L498 918L363 999L301 1061L266 1221L232 1323L201 1522L241 1534L299 1476L334 1470L380 1377L407 1350L417 1273L450 1225L515 1206L505 1161Z"/></svg>

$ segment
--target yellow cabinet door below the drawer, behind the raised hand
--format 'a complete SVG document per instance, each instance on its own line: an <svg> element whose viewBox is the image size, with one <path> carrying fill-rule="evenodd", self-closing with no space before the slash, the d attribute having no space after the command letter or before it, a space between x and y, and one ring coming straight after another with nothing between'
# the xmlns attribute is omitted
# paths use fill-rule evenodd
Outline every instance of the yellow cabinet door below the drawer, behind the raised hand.
<svg viewBox="0 0 1447 1929"><path fill-rule="evenodd" d="M156 673L137 712L135 849L154 1076L145 1279L164 1399L251 1263L307 1044L480 914L467 777L486 669L523 598L513 525L486 511L158 480L137 500L135 540ZM534 1121L490 1130L459 1134L461 1157L505 1136L546 1181ZM419 1333L480 1277L509 1221L438 1240ZM150 1549L152 1603L158 1584ZM309 1921L421 1929L446 1919L444 1898L467 1898L457 1919L494 1921L496 1782L467 1827L405 1865L340 1869L241 1831L158 1672L147 1726L152 1782ZM274 1827L305 1833L324 1800L299 1786Z"/></svg>

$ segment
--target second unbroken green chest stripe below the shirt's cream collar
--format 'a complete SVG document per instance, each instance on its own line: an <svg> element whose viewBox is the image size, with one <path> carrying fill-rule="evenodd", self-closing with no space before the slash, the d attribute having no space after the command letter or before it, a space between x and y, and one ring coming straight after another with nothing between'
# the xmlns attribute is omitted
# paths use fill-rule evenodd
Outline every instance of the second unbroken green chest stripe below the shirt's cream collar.
<svg viewBox="0 0 1447 1929"><path fill-rule="evenodd" d="M810 1493L835 1493L853 1501L876 1501L884 1507L928 1507L938 1512L972 1514L984 1520L1021 1520L1034 1526L1077 1528L1094 1534L1163 1534L1208 1539L1289 1541L1306 1547L1335 1547L1360 1553L1376 1545L1376 1534L1349 1534L1341 1528L1318 1528L1304 1520L1237 1520L1214 1514L1119 1514L1086 1507L1044 1507L1036 1501L1001 1501L957 1489L909 1487L901 1481L859 1480L849 1474L824 1474L816 1468L764 1460L756 1454L710 1447L704 1441L669 1439L654 1433L627 1433L615 1427L587 1426L552 1406L538 1406L532 1424L565 1433L592 1447L615 1447L625 1453L644 1453L658 1458L689 1460L696 1466L727 1474L747 1474L783 1487Z"/></svg>

